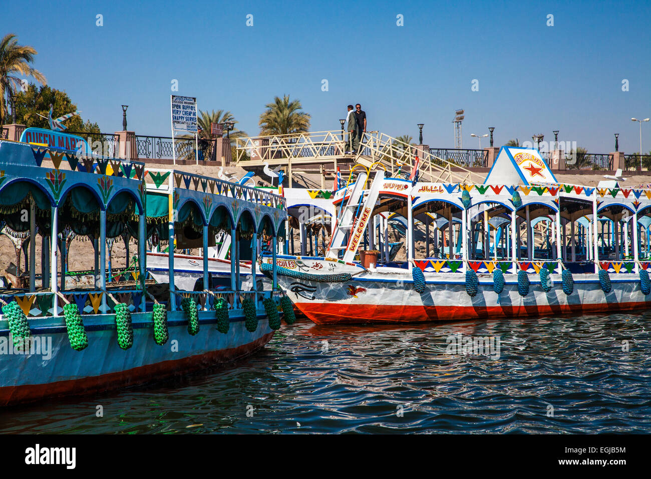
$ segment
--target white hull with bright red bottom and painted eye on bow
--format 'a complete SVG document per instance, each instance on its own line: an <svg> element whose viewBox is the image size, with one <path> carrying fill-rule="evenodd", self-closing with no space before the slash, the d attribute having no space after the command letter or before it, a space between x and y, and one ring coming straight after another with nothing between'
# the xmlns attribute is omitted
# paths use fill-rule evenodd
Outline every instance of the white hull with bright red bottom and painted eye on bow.
<svg viewBox="0 0 651 479"><path fill-rule="evenodd" d="M296 308L318 324L539 317L622 312L651 306L651 295L642 293L635 274L626 279L613 278L609 293L602 291L596 274L576 274L571 295L563 292L560 275L551 275L553 285L548 293L539 281L533 281L536 275L530 278L531 286L525 297L518 293L516 275L505 275L500 295L493 291L492 276L480 276L475 297L466 293L464 275L459 275L461 278L455 282L456 278L450 274L425 274L423 293L414 289L411 279L382 276L385 275L360 275L342 283L279 276L279 283Z"/></svg>

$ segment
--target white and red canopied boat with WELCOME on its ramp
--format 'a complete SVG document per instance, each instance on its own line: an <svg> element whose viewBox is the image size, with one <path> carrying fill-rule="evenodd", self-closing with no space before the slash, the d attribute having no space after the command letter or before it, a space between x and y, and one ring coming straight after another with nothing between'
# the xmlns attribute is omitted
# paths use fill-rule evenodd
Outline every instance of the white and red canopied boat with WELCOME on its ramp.
<svg viewBox="0 0 651 479"><path fill-rule="evenodd" d="M366 182L361 173L333 196L339 213L325 257L277 258L279 285L314 323L611 313L651 304L651 262L643 255L648 188L562 184L537 150L515 147L500 149L483 184L412 182L384 171L368 189ZM406 261L386 260L378 220L387 214L406 219ZM425 244L421 257L416 237ZM379 259L364 266L358 253ZM267 274L270 262L262 258Z"/></svg>

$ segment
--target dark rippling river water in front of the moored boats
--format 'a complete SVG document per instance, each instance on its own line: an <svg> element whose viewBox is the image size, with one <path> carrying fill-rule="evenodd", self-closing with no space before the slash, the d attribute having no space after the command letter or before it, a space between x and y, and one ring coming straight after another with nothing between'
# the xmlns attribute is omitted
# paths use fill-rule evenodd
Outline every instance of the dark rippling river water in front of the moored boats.
<svg viewBox="0 0 651 479"><path fill-rule="evenodd" d="M648 433L650 332L651 313L303 319L229 368L7 408L0 433Z"/></svg>

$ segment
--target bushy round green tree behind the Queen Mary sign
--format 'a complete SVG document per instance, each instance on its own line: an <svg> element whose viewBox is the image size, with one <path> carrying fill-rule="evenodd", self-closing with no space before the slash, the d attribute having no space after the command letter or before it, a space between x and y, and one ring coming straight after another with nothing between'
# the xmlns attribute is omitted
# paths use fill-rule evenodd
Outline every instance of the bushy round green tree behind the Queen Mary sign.
<svg viewBox="0 0 651 479"><path fill-rule="evenodd" d="M77 111L77 105L70 100L66 92L50 88L48 85L38 89L34 83L30 83L26 91L21 91L16 96L16 121L35 128L49 128L50 104L53 106L53 118ZM64 125L66 131L71 132L100 132L97 123L90 123L90 121L84 123L79 115L68 118Z"/></svg>

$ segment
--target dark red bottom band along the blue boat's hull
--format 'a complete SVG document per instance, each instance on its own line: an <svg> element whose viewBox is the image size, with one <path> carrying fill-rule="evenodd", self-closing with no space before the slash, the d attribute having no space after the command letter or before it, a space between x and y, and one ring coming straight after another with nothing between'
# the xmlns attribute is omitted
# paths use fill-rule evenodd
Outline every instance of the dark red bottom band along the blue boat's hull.
<svg viewBox="0 0 651 479"><path fill-rule="evenodd" d="M273 331L251 343L231 349L210 351L210 353L204 355L162 361L118 373L85 377L82 379L69 379L67 381L57 381L44 385L8 386L0 388L0 406L38 401L39 399L53 396L101 392L140 385L150 381L158 381L159 379L165 379L174 375L184 375L192 371L207 368L208 366L214 366L215 364L221 364L249 355L256 351L256 349L263 347L272 337Z"/></svg>

